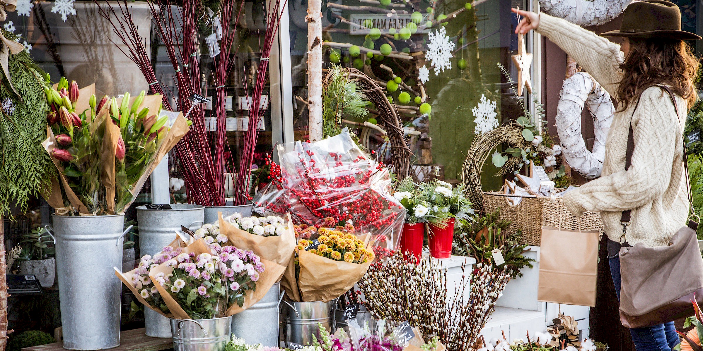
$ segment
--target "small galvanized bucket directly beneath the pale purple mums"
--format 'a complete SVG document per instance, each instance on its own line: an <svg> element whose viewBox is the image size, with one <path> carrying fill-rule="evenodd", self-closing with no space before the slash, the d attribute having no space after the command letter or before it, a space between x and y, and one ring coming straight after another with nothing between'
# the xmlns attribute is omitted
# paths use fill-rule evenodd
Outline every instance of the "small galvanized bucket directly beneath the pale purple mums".
<svg viewBox="0 0 703 351"><path fill-rule="evenodd" d="M231 338L232 317L171 319L174 351L224 351Z"/></svg>

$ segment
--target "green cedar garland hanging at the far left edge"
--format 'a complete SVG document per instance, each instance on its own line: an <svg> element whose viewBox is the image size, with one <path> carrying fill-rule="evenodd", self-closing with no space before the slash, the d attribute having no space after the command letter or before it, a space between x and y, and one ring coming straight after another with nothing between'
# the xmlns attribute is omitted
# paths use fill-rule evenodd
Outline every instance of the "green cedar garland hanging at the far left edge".
<svg viewBox="0 0 703 351"><path fill-rule="evenodd" d="M15 35L4 31L15 39ZM21 100L3 77L0 100L11 99L14 111L0 109L0 213L11 204L27 211L27 201L47 190L56 169L41 142L46 138L46 97L48 74L35 65L27 51L10 55L8 60L12 83Z"/></svg>

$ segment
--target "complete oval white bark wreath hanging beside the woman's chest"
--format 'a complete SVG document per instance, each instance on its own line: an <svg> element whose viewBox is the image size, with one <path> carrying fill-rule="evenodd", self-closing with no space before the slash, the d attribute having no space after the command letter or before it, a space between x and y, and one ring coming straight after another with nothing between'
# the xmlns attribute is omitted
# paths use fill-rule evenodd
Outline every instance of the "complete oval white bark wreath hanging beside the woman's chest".
<svg viewBox="0 0 703 351"><path fill-rule="evenodd" d="M593 117L595 141L588 151L581 136L581 111L588 107ZM557 105L556 126L562 154L571 168L586 178L600 176L605 158L605 140L615 107L610 94L586 72L576 72L564 80Z"/></svg>

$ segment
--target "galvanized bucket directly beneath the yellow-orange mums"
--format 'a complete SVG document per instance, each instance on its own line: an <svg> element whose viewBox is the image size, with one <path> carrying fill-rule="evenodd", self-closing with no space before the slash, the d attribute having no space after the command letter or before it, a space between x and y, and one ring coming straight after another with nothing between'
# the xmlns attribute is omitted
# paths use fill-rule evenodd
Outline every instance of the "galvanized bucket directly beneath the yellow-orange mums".
<svg viewBox="0 0 703 351"><path fill-rule="evenodd" d="M337 299L328 303L313 301L297 303L283 301L283 329L285 333L285 347L297 349L299 345L313 343L312 336L320 337L318 323L331 333L335 332L335 305Z"/></svg>

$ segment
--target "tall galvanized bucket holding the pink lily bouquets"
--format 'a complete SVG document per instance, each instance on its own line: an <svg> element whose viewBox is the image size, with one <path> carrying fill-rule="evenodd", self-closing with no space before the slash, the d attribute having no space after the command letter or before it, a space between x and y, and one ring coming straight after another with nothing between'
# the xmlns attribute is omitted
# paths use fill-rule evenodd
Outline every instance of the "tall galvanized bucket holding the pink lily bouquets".
<svg viewBox="0 0 703 351"><path fill-rule="evenodd" d="M63 348L119 346L124 215L52 217Z"/></svg>

